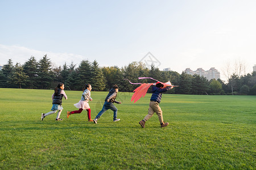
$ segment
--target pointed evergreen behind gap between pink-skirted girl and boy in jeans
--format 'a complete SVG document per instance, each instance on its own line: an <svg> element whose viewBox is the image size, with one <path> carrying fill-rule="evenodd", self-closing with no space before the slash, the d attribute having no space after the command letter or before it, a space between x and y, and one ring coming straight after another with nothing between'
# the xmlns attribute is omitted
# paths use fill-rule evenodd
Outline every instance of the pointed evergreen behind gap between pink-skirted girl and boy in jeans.
<svg viewBox="0 0 256 170"><path fill-rule="evenodd" d="M98 62L96 60L92 63L92 77L90 80L90 84L93 87L93 91L103 91L105 89L105 77L102 73L102 70L98 66Z"/></svg>

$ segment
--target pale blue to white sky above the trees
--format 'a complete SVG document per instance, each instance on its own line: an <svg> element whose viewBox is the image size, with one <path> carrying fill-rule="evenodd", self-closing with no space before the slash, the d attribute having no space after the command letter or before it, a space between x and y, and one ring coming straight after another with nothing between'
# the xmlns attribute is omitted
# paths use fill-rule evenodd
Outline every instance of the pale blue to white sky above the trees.
<svg viewBox="0 0 256 170"><path fill-rule="evenodd" d="M0 0L0 65L45 54L53 65L96 60L221 72L256 65L256 1Z"/></svg>

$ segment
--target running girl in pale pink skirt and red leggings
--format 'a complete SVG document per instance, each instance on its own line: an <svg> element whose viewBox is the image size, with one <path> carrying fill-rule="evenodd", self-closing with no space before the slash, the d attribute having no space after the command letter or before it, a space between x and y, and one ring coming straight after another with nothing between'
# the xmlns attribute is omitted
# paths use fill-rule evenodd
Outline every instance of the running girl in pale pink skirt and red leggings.
<svg viewBox="0 0 256 170"><path fill-rule="evenodd" d="M82 87L82 97L79 103L74 104L78 111L72 111L72 112L67 112L67 118L71 114L75 113L81 113L84 109L87 111L87 116L88 116L88 121L92 122L93 120L90 118L90 107L88 104L88 101L92 101L92 97L90 97L90 91L92 90L92 86L90 84L84 84L84 87Z"/></svg>

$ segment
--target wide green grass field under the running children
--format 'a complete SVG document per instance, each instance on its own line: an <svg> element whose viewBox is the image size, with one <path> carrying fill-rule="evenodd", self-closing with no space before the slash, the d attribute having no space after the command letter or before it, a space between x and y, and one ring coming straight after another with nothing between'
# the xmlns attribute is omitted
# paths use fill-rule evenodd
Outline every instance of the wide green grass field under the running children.
<svg viewBox="0 0 256 170"><path fill-rule="evenodd" d="M82 92L65 91L63 121L49 112L53 90L0 88L0 169L256 169L256 96L164 94L160 128L147 114L151 94L131 103L118 93L118 118L107 111L98 124L72 114ZM108 92L91 92L92 118Z"/></svg>

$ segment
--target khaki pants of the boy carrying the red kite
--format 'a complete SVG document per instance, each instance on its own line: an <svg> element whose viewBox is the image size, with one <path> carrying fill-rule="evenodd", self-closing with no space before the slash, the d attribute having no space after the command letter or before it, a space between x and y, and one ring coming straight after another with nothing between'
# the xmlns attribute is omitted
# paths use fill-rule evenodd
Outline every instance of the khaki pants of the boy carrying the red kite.
<svg viewBox="0 0 256 170"><path fill-rule="evenodd" d="M156 113L158 115L160 124L163 123L163 112L162 109L159 107L159 103L156 101L150 101L150 107L148 108L147 116L144 117L144 121L146 122L150 117L153 116L153 114Z"/></svg>

